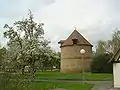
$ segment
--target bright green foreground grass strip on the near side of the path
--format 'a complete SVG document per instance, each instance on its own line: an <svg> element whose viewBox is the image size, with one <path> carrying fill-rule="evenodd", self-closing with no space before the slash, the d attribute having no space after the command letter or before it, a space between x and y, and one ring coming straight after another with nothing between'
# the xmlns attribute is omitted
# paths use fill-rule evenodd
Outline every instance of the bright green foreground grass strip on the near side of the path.
<svg viewBox="0 0 120 90"><path fill-rule="evenodd" d="M54 88L65 88L67 90L91 90L92 84L61 83L61 82L34 82L28 90L51 90Z"/></svg>

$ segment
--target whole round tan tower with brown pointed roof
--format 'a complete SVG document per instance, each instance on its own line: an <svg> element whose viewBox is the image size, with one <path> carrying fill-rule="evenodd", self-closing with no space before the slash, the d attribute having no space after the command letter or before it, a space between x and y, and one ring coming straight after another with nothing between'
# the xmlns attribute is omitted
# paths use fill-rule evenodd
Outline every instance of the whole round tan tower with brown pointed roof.
<svg viewBox="0 0 120 90"><path fill-rule="evenodd" d="M61 72L74 73L90 70L92 60L92 44L90 44L77 30L66 40L58 42L61 48ZM84 49L82 55L80 50ZM83 60L83 61L82 61Z"/></svg>

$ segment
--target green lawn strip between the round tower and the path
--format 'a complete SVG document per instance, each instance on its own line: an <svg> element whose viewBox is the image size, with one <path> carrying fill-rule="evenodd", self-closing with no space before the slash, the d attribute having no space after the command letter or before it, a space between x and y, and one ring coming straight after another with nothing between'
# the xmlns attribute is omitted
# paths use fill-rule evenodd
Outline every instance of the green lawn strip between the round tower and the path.
<svg viewBox="0 0 120 90"><path fill-rule="evenodd" d="M112 74L98 74L98 73L85 73L84 74L85 80L113 80ZM60 72L37 72L36 73L37 79L73 79L73 80L80 80L82 78L81 73L74 73L74 74L63 74Z"/></svg>

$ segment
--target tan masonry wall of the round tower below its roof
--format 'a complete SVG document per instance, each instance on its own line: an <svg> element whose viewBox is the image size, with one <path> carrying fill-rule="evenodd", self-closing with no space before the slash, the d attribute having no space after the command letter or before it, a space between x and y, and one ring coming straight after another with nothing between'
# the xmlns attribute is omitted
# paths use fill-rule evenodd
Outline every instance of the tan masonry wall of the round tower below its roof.
<svg viewBox="0 0 120 90"><path fill-rule="evenodd" d="M81 49L85 49L86 53L82 55ZM83 61L82 61L83 58ZM92 60L92 47L91 46L66 46L61 47L61 72L82 72L90 70L90 63Z"/></svg>

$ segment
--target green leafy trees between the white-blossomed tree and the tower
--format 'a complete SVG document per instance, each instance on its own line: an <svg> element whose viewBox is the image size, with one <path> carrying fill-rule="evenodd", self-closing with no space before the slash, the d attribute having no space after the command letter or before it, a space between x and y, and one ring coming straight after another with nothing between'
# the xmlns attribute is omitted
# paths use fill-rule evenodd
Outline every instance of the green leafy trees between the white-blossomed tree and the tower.
<svg viewBox="0 0 120 90"><path fill-rule="evenodd" d="M50 48L47 49L42 55L41 69L44 70L53 70L53 68L60 69L60 54L54 52Z"/></svg>

